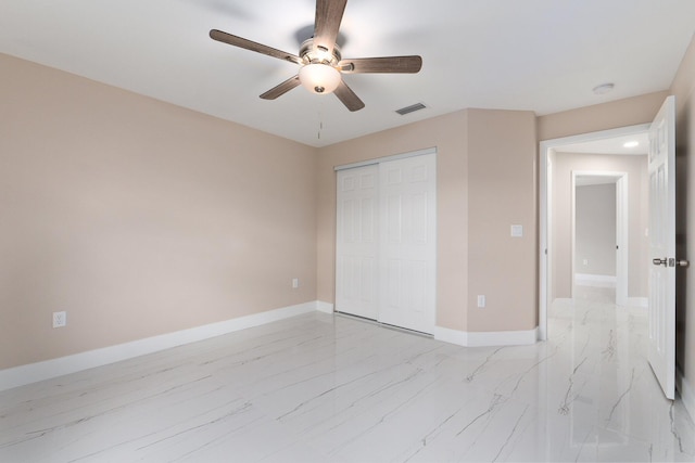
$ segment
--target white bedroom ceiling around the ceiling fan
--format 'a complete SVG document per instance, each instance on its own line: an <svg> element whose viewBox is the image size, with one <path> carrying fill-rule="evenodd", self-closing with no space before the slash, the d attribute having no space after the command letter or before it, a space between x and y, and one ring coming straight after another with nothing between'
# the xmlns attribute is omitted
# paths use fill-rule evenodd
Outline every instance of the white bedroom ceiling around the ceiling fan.
<svg viewBox="0 0 695 463"><path fill-rule="evenodd" d="M695 30L693 0L349 0L344 57L424 60L417 75L345 76L366 104L355 113L302 88L261 100L296 65L207 35L218 28L298 53L314 8L314 0L2 0L0 52L324 146L466 107L543 115L665 90ZM604 82L615 90L594 94ZM394 113L418 102L428 107Z"/></svg>

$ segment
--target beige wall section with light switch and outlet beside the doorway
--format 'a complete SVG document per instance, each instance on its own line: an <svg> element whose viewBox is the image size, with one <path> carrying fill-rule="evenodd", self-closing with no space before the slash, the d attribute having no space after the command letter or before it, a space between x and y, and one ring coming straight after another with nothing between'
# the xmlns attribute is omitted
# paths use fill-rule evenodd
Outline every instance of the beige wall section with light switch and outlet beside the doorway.
<svg viewBox="0 0 695 463"><path fill-rule="evenodd" d="M535 115L470 110L468 123L469 332L538 325ZM511 237L513 224L523 227ZM485 308L477 307L478 295Z"/></svg>

